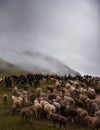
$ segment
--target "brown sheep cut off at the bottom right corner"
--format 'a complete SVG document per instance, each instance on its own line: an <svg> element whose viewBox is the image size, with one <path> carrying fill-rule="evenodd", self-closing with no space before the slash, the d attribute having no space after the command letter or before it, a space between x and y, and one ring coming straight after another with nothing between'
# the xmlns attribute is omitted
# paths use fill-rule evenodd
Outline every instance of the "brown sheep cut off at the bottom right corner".
<svg viewBox="0 0 100 130"><path fill-rule="evenodd" d="M95 130L95 128L98 130L100 128L100 117L98 116L91 117L87 115L85 117L85 121L87 122L88 126L92 128L92 130Z"/></svg>

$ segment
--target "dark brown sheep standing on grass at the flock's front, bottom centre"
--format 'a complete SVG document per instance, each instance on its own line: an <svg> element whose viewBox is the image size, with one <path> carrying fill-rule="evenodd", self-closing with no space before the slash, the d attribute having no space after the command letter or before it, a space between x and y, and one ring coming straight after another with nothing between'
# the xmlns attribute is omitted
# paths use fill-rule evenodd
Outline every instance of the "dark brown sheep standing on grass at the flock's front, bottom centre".
<svg viewBox="0 0 100 130"><path fill-rule="evenodd" d="M56 124L58 124L60 128L63 126L66 129L66 117L59 114L50 113L49 119L53 121L54 127L56 126Z"/></svg>

